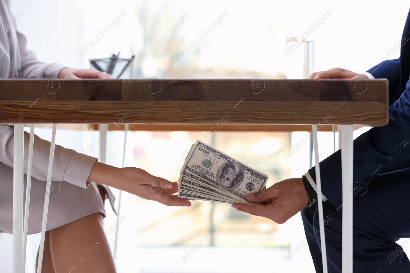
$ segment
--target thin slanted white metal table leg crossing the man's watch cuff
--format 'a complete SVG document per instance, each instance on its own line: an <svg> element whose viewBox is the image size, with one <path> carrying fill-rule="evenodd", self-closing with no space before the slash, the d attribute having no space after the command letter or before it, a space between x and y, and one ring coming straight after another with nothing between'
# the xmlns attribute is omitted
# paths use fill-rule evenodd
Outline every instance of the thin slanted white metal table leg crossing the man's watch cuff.
<svg viewBox="0 0 410 273"><path fill-rule="evenodd" d="M316 186L317 186L317 206L319 208L319 230L320 230L320 246L322 250L322 265L323 272L328 272L328 262L326 257L326 240L325 240L325 225L323 220L323 199L322 186L320 181L320 166L319 166L319 146L317 142L317 126L312 125L314 161L316 171Z"/></svg>

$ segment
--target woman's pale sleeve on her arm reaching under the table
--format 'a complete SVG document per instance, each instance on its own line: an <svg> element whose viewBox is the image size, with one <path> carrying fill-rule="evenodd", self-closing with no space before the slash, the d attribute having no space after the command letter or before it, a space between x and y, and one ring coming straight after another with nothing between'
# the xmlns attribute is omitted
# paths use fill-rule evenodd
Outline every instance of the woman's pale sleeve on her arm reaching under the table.
<svg viewBox="0 0 410 273"><path fill-rule="evenodd" d="M14 158L14 129L12 126L0 126L0 164L13 167ZM24 133L24 173L28 168L28 149L30 134ZM47 180L48 158L50 155L50 142L34 135L32 177L39 180ZM91 168L97 158L77 153L55 145L54 160L52 167L53 181L66 181L73 185L86 188ZM1 174L0 174L1 176Z"/></svg>

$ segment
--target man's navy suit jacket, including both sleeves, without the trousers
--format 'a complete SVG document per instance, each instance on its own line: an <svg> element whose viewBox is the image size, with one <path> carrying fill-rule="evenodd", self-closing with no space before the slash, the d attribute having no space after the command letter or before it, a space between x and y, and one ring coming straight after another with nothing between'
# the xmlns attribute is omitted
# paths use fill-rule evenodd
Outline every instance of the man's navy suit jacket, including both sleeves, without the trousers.
<svg viewBox="0 0 410 273"><path fill-rule="evenodd" d="M367 71L375 78L389 80L390 118L389 124L372 128L353 142L354 196L364 194L361 191L381 173L409 168L410 174L410 41L407 37L410 37L410 11L403 30L400 58L383 61ZM320 162L322 193L339 210L343 203L341 169L341 150ZM314 167L309 174L316 181Z"/></svg>

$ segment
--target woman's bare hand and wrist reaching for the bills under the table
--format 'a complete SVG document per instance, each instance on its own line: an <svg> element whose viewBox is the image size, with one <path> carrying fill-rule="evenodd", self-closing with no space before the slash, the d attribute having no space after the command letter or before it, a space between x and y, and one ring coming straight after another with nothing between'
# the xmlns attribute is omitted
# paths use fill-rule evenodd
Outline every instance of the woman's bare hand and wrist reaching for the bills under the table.
<svg viewBox="0 0 410 273"><path fill-rule="evenodd" d="M153 176L135 167L117 168L101 162L94 163L88 176L89 181L135 194L147 200L154 200L168 206L191 206L189 199L174 195L178 183Z"/></svg>

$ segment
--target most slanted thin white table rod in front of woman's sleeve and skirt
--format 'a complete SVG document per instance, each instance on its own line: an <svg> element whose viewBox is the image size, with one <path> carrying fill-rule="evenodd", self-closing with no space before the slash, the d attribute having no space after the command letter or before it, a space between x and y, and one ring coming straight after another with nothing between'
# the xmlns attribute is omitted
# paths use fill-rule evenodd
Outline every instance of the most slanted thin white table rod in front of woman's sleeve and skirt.
<svg viewBox="0 0 410 273"><path fill-rule="evenodd" d="M52 125L52 135L51 135L51 145L50 145L50 157L48 158L46 196L44 197L43 222L41 223L41 239L40 239L40 249L39 249L39 262L37 264L37 273L41 273L41 266L43 265L44 239L46 238L48 201L50 200L51 174L52 174L52 163L54 160L56 129L57 129L57 124L53 124Z"/></svg>

